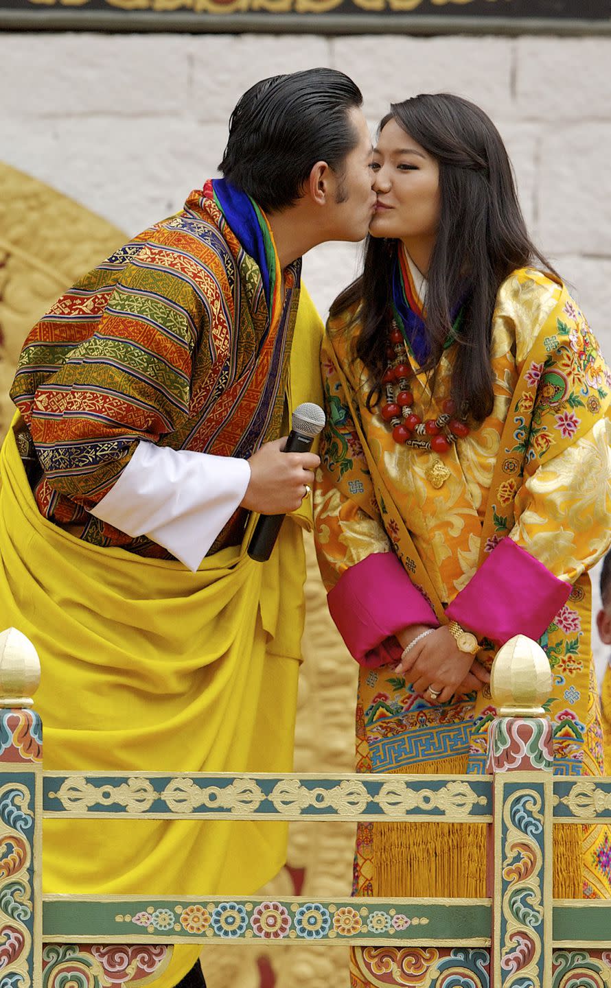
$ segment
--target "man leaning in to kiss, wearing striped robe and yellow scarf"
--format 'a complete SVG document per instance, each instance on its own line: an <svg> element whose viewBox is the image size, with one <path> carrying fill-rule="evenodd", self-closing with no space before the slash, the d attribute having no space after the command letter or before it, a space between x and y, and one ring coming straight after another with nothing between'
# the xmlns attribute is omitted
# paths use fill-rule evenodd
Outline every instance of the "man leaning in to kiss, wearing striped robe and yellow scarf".
<svg viewBox="0 0 611 988"><path fill-rule="evenodd" d="M26 341L0 455L0 599L2 626L42 658L48 769L291 768L301 532L286 522L268 563L246 548L256 513L307 523L318 457L280 439L319 387L300 259L367 233L361 103L331 69L253 86L223 180L85 275ZM270 823L52 820L44 887L252 894L285 838ZM176 948L158 988L203 985L197 952Z"/></svg>

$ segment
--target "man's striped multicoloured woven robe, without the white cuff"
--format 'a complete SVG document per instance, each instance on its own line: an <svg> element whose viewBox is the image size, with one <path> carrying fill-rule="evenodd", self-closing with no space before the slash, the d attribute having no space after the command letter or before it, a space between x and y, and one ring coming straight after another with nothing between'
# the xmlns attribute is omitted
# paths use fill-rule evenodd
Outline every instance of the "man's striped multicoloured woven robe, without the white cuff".
<svg viewBox="0 0 611 988"><path fill-rule="evenodd" d="M90 514L138 441L248 457L281 435L301 260L271 320L212 185L61 295L24 345L11 397L37 505L85 541L169 556ZM245 519L238 509L211 552L239 544Z"/></svg>

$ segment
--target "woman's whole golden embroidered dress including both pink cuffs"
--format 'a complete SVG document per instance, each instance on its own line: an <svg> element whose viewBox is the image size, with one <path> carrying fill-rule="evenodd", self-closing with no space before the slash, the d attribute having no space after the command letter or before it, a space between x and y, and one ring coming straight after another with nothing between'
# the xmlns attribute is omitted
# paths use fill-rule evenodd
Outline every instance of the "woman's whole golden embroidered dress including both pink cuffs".
<svg viewBox="0 0 611 988"><path fill-rule="evenodd" d="M414 275L410 264L417 296ZM327 426L314 496L329 607L361 666L358 771L484 771L489 691L432 706L390 661L400 654L394 631L451 617L478 633L488 665L512 634L540 639L554 673L555 771L602 775L587 570L611 541L611 376L584 316L553 276L515 271L493 314L492 412L440 454L397 444L380 406L367 409L358 326L358 310L344 312L323 340ZM431 391L405 344L422 418L436 419L450 396L455 349ZM555 894L608 896L606 828L555 837ZM362 824L355 892L480 896L484 863L481 825Z"/></svg>

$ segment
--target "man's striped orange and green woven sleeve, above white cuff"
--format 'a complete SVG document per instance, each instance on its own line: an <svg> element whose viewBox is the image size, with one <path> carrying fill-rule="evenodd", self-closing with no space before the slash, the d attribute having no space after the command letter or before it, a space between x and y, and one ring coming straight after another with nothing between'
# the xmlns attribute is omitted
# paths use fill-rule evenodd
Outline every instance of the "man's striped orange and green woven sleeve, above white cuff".
<svg viewBox="0 0 611 988"><path fill-rule="evenodd" d="M187 264L194 270L183 271ZM44 316L36 344L24 348L14 400L56 492L90 509L139 441L159 443L186 421L193 355L207 325L204 274L194 258L149 240L137 245L114 284L101 266L87 276L99 285L83 280ZM63 332L51 338L80 336L58 370L41 375L44 324L57 321ZM206 355L200 365L206 371Z"/></svg>

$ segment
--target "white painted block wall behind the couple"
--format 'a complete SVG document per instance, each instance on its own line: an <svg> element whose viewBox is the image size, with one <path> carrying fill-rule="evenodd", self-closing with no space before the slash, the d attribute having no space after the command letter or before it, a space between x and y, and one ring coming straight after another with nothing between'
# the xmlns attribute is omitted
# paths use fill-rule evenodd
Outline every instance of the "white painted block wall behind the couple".
<svg viewBox="0 0 611 988"><path fill-rule="evenodd" d="M448 91L492 117L531 233L611 357L611 39L0 34L0 159L135 233L216 174L239 95L330 65L365 95ZM306 257L321 314L357 251ZM599 654L602 662L602 652Z"/></svg>

